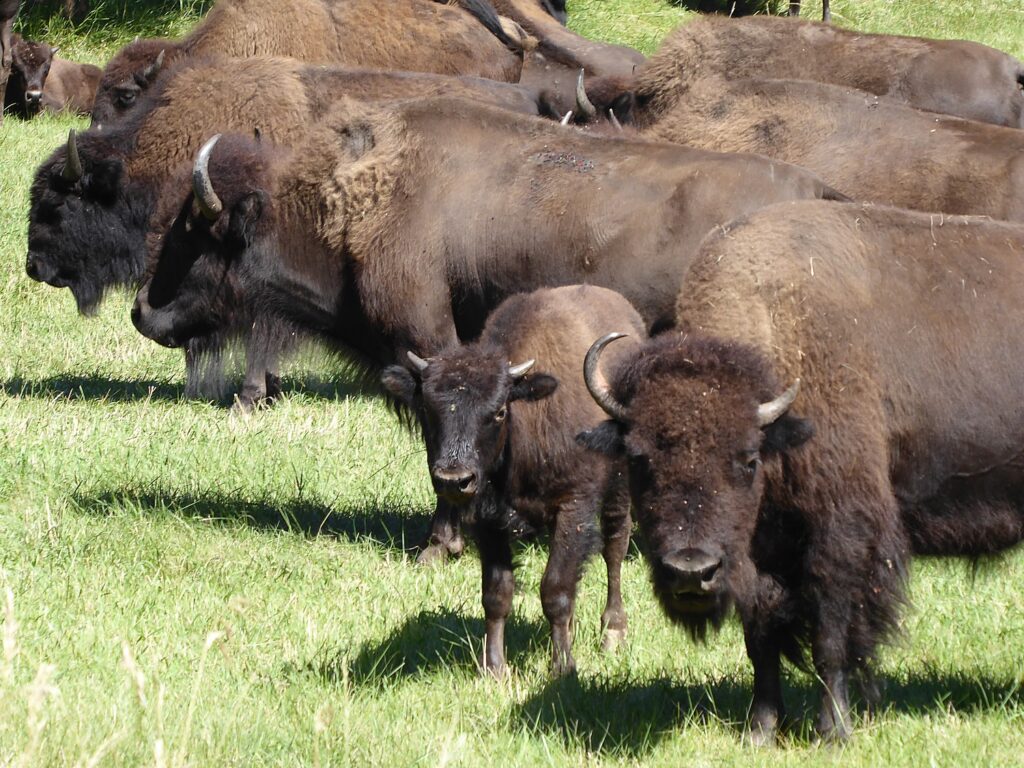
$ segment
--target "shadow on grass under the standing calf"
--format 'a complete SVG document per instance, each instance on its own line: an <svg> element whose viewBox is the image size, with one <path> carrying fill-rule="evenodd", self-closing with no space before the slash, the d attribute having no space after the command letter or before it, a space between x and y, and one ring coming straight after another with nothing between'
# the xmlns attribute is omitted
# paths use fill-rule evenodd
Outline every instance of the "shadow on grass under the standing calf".
<svg viewBox="0 0 1024 768"><path fill-rule="evenodd" d="M483 618L476 614L481 612L475 601L464 610L421 610L383 639L360 645L354 655L334 651L311 658L298 671L331 685L348 681L375 689L453 670L477 675ZM513 669L534 654L547 657L548 630L543 621L525 621L513 612L505 640Z"/></svg>

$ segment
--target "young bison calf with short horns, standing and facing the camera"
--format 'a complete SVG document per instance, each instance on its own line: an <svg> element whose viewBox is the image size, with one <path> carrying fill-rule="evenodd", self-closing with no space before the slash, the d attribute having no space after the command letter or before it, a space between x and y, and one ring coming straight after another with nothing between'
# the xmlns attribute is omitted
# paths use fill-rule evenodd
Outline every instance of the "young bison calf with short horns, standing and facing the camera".
<svg viewBox="0 0 1024 768"><path fill-rule="evenodd" d="M525 530L551 534L541 604L551 625L554 674L575 669L577 585L599 515L608 572L604 645L612 648L626 636L620 574L632 521L625 466L573 439L601 416L584 386L583 358L591 341L612 329L634 340L645 336L640 315L613 291L541 289L506 299L476 343L426 360L410 353L412 370L384 371L384 386L419 418L434 490L474 521L486 617L483 667L496 675L505 669L512 609L511 541ZM625 353L629 345L622 346L616 351Z"/></svg>

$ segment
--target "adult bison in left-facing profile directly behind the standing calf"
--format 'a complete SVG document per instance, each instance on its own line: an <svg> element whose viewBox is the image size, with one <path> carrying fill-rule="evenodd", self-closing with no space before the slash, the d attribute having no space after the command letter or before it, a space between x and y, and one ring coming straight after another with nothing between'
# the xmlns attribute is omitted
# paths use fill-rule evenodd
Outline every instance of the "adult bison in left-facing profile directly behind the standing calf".
<svg viewBox="0 0 1024 768"><path fill-rule="evenodd" d="M613 288L674 322L700 238L841 197L763 158L588 136L457 99L341 103L295 151L232 137L168 193L132 318L167 345L272 312L388 365L477 336L512 293ZM449 521L454 527L454 523ZM454 534L424 553L461 551Z"/></svg>

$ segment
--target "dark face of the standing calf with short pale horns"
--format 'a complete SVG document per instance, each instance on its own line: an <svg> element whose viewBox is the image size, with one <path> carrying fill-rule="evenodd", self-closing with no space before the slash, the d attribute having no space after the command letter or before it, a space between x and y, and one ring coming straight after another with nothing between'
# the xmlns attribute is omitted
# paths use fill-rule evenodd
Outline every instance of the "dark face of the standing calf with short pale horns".
<svg viewBox="0 0 1024 768"><path fill-rule="evenodd" d="M384 386L420 419L434 490L453 504L468 504L503 465L510 404L548 397L558 382L527 376L534 360L510 365L473 347L429 360L410 353L410 359L414 370L388 368Z"/></svg>

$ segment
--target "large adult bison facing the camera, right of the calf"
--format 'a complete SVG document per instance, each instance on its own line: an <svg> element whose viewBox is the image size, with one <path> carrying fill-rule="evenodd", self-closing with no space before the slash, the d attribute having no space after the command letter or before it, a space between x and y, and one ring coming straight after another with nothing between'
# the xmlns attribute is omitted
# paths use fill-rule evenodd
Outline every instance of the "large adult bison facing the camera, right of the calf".
<svg viewBox="0 0 1024 768"><path fill-rule="evenodd" d="M755 740L805 648L818 732L849 734L911 553L1024 537L1022 254L1008 222L774 206L705 241L679 333L589 377L611 419L581 440L628 461L663 608L702 637L736 607Z"/></svg>

